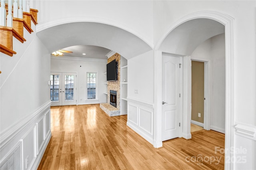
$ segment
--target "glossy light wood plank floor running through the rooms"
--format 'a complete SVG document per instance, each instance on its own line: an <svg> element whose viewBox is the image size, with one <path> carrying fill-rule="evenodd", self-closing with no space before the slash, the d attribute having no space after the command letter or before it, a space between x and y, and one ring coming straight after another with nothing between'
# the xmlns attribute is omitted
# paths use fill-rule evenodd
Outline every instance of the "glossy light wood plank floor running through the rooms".
<svg viewBox="0 0 256 170"><path fill-rule="evenodd" d="M224 148L222 133L200 130L156 149L126 121L99 105L52 107L52 138L38 169L224 169L224 154L215 153L215 146Z"/></svg>

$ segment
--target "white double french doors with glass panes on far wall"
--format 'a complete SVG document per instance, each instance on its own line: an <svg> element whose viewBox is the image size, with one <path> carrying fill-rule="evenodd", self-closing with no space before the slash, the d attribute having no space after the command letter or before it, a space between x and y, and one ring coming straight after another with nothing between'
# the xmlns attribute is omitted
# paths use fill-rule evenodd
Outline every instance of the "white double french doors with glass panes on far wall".
<svg viewBox="0 0 256 170"><path fill-rule="evenodd" d="M76 105L76 73L51 73L52 106Z"/></svg>

